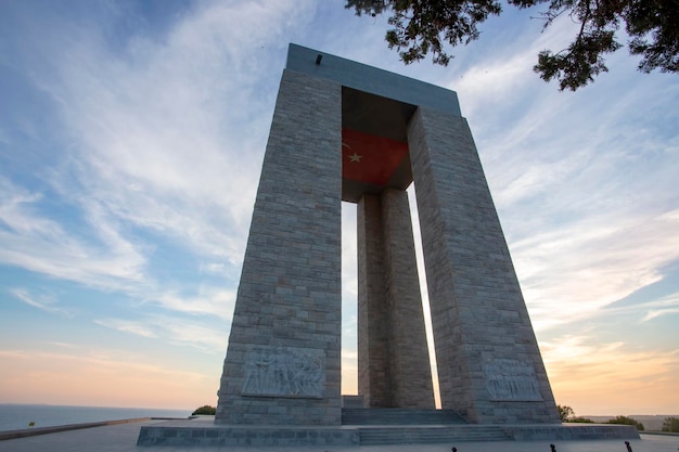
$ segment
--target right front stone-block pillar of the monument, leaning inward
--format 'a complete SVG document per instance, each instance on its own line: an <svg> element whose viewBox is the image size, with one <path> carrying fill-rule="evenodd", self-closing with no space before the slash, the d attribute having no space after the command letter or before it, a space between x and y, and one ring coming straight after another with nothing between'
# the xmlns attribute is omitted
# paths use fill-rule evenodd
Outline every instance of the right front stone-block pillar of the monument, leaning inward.
<svg viewBox="0 0 679 452"><path fill-rule="evenodd" d="M408 143L443 408L474 423L555 422L554 398L466 120L420 107Z"/></svg>

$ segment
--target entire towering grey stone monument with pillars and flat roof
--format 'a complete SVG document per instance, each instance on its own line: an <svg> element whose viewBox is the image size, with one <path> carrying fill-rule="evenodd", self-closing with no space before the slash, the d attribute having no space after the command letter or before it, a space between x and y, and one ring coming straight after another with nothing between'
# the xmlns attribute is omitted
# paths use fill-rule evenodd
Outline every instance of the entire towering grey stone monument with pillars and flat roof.
<svg viewBox="0 0 679 452"><path fill-rule="evenodd" d="M559 422L457 94L291 44L216 424L341 425L343 201L358 208L364 408L435 408L411 183L443 409L476 424Z"/></svg>

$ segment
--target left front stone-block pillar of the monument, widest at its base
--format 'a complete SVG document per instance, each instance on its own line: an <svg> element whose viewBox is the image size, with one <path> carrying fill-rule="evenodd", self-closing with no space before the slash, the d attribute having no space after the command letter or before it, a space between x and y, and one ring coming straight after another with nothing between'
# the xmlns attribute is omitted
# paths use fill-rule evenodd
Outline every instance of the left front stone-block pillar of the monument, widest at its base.
<svg viewBox="0 0 679 452"><path fill-rule="evenodd" d="M341 85L283 74L218 424L341 424Z"/></svg>

